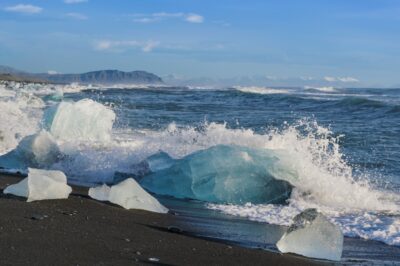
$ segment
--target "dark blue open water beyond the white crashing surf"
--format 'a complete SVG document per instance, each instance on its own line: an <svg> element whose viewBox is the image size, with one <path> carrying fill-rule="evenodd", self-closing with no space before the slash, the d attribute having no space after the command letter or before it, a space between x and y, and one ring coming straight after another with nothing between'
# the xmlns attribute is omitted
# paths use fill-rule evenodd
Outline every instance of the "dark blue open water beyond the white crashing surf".
<svg viewBox="0 0 400 266"><path fill-rule="evenodd" d="M282 89L264 92L187 88L87 90L67 98L111 105L115 128L162 130L169 124L202 127L204 122L263 133L301 119L317 121L340 139L355 171L376 182L400 185L400 89Z"/></svg>

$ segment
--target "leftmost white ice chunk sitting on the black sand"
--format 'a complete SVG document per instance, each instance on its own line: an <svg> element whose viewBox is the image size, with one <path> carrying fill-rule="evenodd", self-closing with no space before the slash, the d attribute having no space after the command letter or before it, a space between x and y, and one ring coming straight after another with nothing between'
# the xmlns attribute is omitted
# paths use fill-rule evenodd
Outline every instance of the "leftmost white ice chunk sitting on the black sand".
<svg viewBox="0 0 400 266"><path fill-rule="evenodd" d="M66 199L72 189L61 171L28 169L28 177L4 189L4 194L27 198L27 202L47 199Z"/></svg>

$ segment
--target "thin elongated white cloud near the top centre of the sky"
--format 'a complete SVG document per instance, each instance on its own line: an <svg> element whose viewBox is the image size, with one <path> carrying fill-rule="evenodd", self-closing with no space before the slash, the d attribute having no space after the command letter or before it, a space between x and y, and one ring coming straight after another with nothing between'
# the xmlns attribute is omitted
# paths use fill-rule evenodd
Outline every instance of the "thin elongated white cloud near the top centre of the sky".
<svg viewBox="0 0 400 266"><path fill-rule="evenodd" d="M195 13L167 13L159 12L153 14L133 14L134 22L137 23L154 23L167 19L181 19L189 23L203 23L204 17Z"/></svg>

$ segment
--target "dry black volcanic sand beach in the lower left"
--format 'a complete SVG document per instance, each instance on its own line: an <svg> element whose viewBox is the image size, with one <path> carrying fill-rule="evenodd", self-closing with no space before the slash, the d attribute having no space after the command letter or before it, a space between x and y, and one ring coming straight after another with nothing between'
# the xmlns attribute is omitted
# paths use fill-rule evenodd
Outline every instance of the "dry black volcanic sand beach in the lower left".
<svg viewBox="0 0 400 266"><path fill-rule="evenodd" d="M0 188L20 181L0 176ZM173 214L125 210L74 188L67 200L0 194L1 265L320 265L322 262L191 237Z"/></svg>

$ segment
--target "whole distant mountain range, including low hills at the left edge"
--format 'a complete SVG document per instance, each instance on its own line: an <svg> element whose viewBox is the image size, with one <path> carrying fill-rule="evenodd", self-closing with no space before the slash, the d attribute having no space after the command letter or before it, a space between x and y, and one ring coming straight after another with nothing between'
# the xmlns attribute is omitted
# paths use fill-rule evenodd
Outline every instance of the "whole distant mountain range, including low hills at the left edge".
<svg viewBox="0 0 400 266"><path fill-rule="evenodd" d="M41 80L51 83L81 84L161 84L163 80L155 74L146 71L124 72L119 70L99 70L83 74L47 74L29 73L8 66L0 66L0 74L9 74L16 79Z"/></svg>

